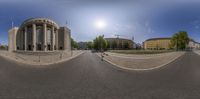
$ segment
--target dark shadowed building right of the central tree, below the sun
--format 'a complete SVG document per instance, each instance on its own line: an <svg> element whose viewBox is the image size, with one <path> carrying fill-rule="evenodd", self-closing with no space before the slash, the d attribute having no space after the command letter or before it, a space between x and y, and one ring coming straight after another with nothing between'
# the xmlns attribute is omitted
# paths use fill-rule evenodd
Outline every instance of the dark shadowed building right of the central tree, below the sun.
<svg viewBox="0 0 200 99"><path fill-rule="evenodd" d="M124 38L105 38L109 49L133 49L134 42Z"/></svg>

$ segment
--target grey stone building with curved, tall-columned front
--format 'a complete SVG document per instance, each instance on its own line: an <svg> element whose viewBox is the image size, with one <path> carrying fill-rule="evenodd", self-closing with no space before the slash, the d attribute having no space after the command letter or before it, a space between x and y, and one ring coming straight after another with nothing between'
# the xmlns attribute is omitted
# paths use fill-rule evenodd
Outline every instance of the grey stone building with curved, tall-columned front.
<svg viewBox="0 0 200 99"><path fill-rule="evenodd" d="M9 51L71 50L71 32L47 18L31 18L9 30Z"/></svg>

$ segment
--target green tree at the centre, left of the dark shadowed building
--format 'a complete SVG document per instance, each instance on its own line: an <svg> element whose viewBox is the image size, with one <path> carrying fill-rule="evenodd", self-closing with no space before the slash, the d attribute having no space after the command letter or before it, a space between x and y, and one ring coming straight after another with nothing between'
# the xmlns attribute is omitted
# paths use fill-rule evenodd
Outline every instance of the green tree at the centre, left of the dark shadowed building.
<svg viewBox="0 0 200 99"><path fill-rule="evenodd" d="M104 36L98 36L93 41L93 47L95 50L105 50L107 48L107 42Z"/></svg>

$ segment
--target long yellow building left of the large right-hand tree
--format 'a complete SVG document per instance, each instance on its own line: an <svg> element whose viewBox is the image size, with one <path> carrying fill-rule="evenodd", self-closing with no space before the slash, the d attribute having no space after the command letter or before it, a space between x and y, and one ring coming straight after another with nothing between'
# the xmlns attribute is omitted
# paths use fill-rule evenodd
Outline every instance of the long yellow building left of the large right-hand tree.
<svg viewBox="0 0 200 99"><path fill-rule="evenodd" d="M144 49L168 50L170 49L171 38L151 38L143 43Z"/></svg>

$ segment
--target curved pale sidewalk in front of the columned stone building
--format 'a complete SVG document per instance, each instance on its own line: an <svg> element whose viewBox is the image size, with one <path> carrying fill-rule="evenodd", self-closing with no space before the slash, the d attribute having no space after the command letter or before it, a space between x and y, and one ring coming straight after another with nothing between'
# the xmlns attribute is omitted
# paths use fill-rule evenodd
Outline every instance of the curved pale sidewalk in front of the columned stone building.
<svg viewBox="0 0 200 99"><path fill-rule="evenodd" d="M22 64L28 65L51 65L60 62L64 62L70 59L73 59L81 54L84 51L77 50L77 51L68 51L68 52L60 52L59 54L47 54L47 55L26 55L8 51L0 51L0 56L12 60Z"/></svg>

